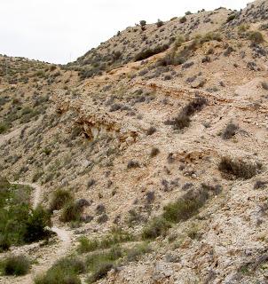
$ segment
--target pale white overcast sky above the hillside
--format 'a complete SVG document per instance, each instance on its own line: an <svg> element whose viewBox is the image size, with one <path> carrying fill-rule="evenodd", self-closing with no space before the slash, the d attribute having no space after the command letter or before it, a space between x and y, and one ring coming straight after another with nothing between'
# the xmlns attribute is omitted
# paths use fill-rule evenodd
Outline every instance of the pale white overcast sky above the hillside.
<svg viewBox="0 0 268 284"><path fill-rule="evenodd" d="M0 0L0 54L67 63L118 30L250 0Z"/></svg>

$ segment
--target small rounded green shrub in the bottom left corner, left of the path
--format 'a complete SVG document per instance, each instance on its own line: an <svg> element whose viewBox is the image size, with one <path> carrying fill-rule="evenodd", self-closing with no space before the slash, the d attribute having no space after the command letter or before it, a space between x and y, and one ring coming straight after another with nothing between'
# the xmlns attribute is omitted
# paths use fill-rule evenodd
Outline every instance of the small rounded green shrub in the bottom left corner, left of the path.
<svg viewBox="0 0 268 284"><path fill-rule="evenodd" d="M30 262L25 256L10 256L4 260L3 264L4 275L25 275L30 269Z"/></svg>

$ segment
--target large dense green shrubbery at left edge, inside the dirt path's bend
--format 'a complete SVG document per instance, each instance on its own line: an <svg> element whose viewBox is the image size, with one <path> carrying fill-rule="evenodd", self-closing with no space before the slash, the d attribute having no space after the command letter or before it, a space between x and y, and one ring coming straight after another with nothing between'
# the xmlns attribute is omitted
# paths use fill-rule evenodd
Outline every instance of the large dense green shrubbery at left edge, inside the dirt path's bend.
<svg viewBox="0 0 268 284"><path fill-rule="evenodd" d="M42 207L31 209L31 191L0 179L0 250L49 237L50 214Z"/></svg>

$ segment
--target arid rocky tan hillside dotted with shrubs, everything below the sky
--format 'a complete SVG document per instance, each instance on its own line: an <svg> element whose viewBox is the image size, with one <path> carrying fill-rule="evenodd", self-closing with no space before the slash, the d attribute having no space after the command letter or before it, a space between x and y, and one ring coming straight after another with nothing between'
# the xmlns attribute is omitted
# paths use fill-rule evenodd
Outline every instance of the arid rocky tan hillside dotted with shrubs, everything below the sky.
<svg viewBox="0 0 268 284"><path fill-rule="evenodd" d="M267 9L0 57L0 283L268 283Z"/></svg>

